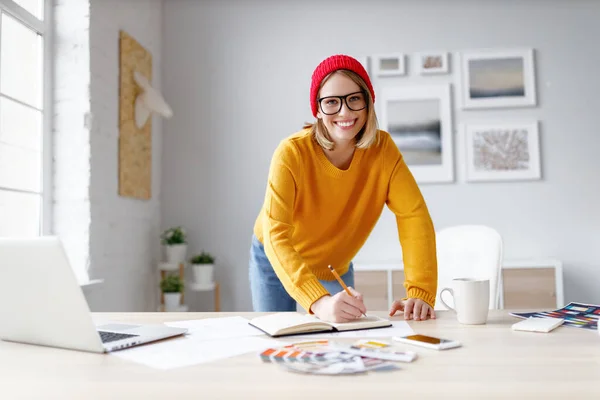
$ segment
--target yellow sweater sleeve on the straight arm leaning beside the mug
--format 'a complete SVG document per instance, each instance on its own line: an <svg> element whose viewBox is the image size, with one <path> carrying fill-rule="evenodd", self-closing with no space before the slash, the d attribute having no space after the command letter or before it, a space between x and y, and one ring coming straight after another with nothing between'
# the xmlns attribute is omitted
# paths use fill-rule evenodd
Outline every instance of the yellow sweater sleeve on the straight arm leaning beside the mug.
<svg viewBox="0 0 600 400"><path fill-rule="evenodd" d="M421 299L434 307L437 256L433 222L423 195L399 152L395 160L387 205L396 215L404 260L404 287L407 298Z"/></svg>

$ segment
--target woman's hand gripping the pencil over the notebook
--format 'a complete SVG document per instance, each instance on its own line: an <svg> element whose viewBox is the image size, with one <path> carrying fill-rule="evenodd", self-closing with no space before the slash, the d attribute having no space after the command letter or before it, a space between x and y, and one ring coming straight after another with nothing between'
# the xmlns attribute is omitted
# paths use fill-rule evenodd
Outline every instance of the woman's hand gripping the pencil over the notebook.
<svg viewBox="0 0 600 400"><path fill-rule="evenodd" d="M362 317L367 312L363 297L351 287L348 289L354 296L342 290L333 296L321 297L310 309L319 319L329 322L350 322Z"/></svg>

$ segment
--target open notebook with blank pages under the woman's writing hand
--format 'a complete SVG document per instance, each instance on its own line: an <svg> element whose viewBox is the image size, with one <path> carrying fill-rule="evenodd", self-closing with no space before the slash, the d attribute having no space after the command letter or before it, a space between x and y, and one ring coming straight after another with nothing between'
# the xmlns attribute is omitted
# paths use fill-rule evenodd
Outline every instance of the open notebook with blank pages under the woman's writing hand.
<svg viewBox="0 0 600 400"><path fill-rule="evenodd" d="M267 335L286 336L302 333L355 331L358 329L385 328L392 323L379 317L361 317L352 322L326 322L314 315L297 312L281 312L256 317L249 324L265 332Z"/></svg>

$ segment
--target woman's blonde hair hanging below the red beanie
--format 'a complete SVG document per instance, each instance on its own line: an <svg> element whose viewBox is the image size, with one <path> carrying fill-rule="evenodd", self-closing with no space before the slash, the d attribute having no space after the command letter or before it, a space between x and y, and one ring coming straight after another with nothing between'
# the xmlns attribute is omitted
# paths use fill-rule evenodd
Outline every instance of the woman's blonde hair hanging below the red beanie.
<svg viewBox="0 0 600 400"><path fill-rule="evenodd" d="M375 107L373 106L373 98L371 97L371 92L369 91L369 88L362 80L362 78L358 76L358 74L348 70L337 70L327 75L321 82L319 91L321 91L321 88L323 87L325 82L327 82L327 80L336 73L343 74L348 78L352 79L352 81L356 83L367 96L367 122L365 123L365 126L362 127L360 132L358 132L355 138L355 146L359 149L366 149L374 143L379 142L379 128L377 123L377 115L375 114ZM313 99L313 101L317 101L317 99ZM329 136L329 131L327 130L327 127L325 127L325 124L323 123L322 119L317 118L317 120L314 123L304 124L303 129L310 129L310 133L312 134L313 138L317 141L317 143L319 143L319 145L322 148L326 150L333 150L335 143L331 140L331 136Z"/></svg>

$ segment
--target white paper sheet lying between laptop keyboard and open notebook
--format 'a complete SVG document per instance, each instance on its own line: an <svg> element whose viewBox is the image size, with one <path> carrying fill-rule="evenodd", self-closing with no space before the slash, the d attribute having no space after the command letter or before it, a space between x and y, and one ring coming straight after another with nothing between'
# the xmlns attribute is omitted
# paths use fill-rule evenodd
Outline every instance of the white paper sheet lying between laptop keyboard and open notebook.
<svg viewBox="0 0 600 400"><path fill-rule="evenodd" d="M187 328L188 336L200 340L228 339L264 335L260 329L248 324L242 317L223 317L165 322L176 328Z"/></svg>

